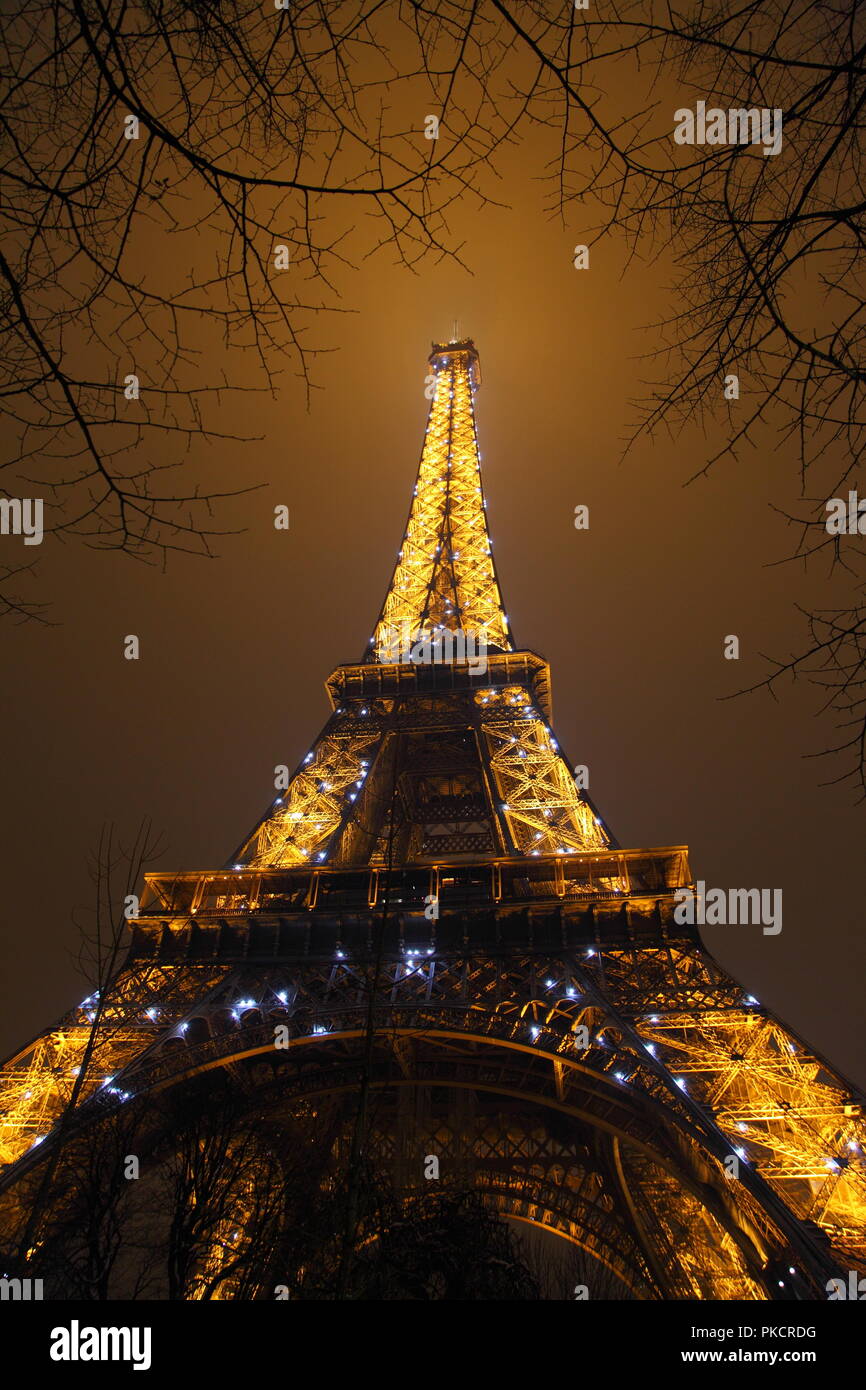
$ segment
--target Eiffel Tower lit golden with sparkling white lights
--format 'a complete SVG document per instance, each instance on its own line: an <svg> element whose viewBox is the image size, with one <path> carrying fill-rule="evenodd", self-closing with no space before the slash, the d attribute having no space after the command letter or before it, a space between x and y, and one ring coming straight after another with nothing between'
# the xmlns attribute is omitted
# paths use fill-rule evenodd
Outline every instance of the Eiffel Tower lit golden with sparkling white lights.
<svg viewBox="0 0 866 1390"><path fill-rule="evenodd" d="M471 339L428 371L361 659L228 863L147 874L103 997L7 1061L0 1190L32 1191L92 1038L79 1129L222 1070L345 1151L366 1087L402 1191L435 1156L616 1297L826 1298L865 1269L862 1101L677 920L687 848L592 805L505 614Z"/></svg>

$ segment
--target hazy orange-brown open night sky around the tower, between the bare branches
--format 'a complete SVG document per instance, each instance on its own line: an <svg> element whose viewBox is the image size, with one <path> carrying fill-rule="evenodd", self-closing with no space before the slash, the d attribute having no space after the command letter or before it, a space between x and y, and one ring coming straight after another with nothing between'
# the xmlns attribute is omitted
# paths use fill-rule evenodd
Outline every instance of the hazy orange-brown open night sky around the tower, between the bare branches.
<svg viewBox="0 0 866 1390"><path fill-rule="evenodd" d="M784 891L784 929L705 929L762 1004L866 1083L860 999L863 809L820 752L835 741L819 692L724 699L806 641L795 605L837 581L774 566L792 549L773 507L798 496L792 446L767 430L737 463L687 480L727 428L639 441L623 460L670 310L670 267L626 267L616 238L573 268L574 227L544 215L532 142L512 156L510 208L453 210L453 260L413 274L386 252L346 272L342 309L311 317L306 409L291 357L274 399L227 399L246 442L193 445L239 534L213 560L165 571L72 543L42 548L54 627L6 623L0 1052L89 992L72 912L92 902L100 826L131 840L143 815L164 869L220 866L328 712L322 682L360 659L379 612L421 449L431 342L475 341L482 478L518 646L552 664L553 726L624 847L688 844L708 885ZM575 214L577 222L577 214ZM657 368L656 368L657 370ZM713 435L717 430L717 438ZM274 506L291 507L275 531ZM589 530L574 507L589 507ZM8 548L10 538L3 539ZM4 555L7 552L4 550ZM140 638L140 660L122 641ZM741 660L723 657L727 634Z"/></svg>

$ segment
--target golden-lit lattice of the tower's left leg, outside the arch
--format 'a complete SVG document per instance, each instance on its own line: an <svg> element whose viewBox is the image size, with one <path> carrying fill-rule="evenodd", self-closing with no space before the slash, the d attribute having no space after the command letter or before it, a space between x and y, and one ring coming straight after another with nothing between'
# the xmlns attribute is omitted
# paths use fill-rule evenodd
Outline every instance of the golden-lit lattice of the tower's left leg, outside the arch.
<svg viewBox="0 0 866 1390"><path fill-rule="evenodd" d="M221 973L206 979L164 966L126 972L99 1022L97 995L90 995L11 1058L0 1069L0 1166L17 1162L47 1137L70 1102L92 1034L78 1105L100 1090L121 1099L122 1088L114 1084L118 1073L177 1023L200 988L213 986Z"/></svg>

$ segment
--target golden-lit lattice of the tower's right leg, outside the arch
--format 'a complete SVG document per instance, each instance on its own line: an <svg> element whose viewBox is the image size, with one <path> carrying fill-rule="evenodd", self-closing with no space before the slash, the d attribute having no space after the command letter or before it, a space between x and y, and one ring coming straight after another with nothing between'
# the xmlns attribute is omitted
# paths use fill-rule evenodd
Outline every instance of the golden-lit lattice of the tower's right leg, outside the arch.
<svg viewBox="0 0 866 1390"><path fill-rule="evenodd" d="M866 1123L845 1084L699 947L598 951L587 969L731 1152L863 1262Z"/></svg>

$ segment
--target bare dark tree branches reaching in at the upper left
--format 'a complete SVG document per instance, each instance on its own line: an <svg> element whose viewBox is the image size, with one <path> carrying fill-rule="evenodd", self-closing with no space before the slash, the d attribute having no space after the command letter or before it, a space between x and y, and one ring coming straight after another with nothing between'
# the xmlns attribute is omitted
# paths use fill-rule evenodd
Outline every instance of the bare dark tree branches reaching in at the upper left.
<svg viewBox="0 0 866 1390"><path fill-rule="evenodd" d="M28 0L7 18L6 492L47 495L46 534L210 553L217 495L186 461L218 436L204 409L291 364L309 379L306 328L342 311L348 240L407 264L443 252L445 207L489 142L467 121L443 158L389 117L377 11ZM21 573L7 564L7 609L36 616Z"/></svg>

